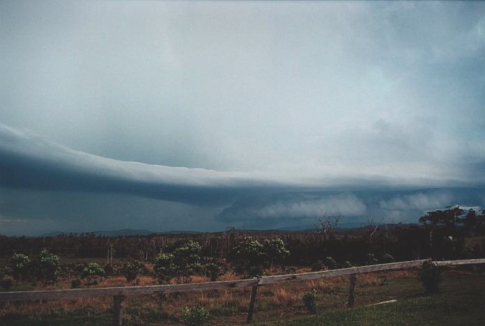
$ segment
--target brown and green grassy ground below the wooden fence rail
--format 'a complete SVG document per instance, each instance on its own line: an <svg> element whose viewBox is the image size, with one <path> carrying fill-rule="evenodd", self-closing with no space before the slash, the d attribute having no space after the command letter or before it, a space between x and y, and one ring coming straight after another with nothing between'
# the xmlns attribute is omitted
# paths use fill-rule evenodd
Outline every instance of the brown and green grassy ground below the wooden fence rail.
<svg viewBox="0 0 485 326"><path fill-rule="evenodd" d="M261 287L256 301L257 325L485 325L485 275L450 270L442 292L422 295L415 272L362 274L357 279L356 307L345 309L346 277ZM318 310L311 315L301 301L303 290L318 290ZM367 306L385 300L398 302ZM200 303L210 312L210 324L240 325L245 320L249 292L170 295L128 301L125 325L177 325L185 304ZM0 306L1 325L109 325L111 300L89 298L63 302L10 303ZM162 309L161 309L162 308ZM275 320L285 320L284 322Z"/></svg>

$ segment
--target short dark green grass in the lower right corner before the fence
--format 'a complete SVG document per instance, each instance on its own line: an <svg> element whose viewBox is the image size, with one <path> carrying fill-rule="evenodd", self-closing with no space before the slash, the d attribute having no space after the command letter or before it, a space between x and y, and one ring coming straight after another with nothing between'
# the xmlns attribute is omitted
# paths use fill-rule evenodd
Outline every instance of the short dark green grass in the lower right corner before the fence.
<svg viewBox="0 0 485 326"><path fill-rule="evenodd" d="M485 325L484 281L473 283L470 277L454 277L432 296L261 325Z"/></svg>

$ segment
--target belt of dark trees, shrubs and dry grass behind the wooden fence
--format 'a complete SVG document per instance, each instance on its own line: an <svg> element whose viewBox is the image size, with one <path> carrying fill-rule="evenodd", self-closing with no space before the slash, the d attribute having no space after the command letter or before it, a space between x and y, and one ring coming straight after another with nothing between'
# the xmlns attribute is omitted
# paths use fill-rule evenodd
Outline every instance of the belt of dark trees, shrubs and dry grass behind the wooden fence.
<svg viewBox="0 0 485 326"><path fill-rule="evenodd" d="M93 235L59 235L40 239L0 236L0 245L5 244L4 262L8 265L3 272L0 270L0 285L1 290L35 290L46 285L54 288L56 282L55 288L123 286L132 285L132 281L136 281L137 285L174 284L309 272L423 257L438 260L485 256L484 211L449 207L427 212L421 219L422 225L369 222L368 227L352 230L337 228L338 221L338 217L322 219L316 230L303 232L228 229L224 233L120 238ZM470 235L473 238L469 238ZM114 261L108 258L110 263L101 265L106 262L107 249L110 253L111 244ZM20 249L29 246L30 254L26 256L26 252L22 253ZM83 257L89 253L93 256ZM461 270L466 270L464 275L470 279L474 279L471 273L484 272L482 267L471 266L461 267ZM441 274L442 270L436 266L426 265L419 274L406 271L401 274L359 275L356 305L375 303L376 298L382 301L394 298L414 300L422 295L417 278L422 281L426 294L442 295L447 288L446 282L441 282ZM453 277L453 274L450 275L448 277ZM84 284L81 279L86 280ZM42 281L40 285L33 282L36 280ZM485 286L483 281L474 280L474 288L479 284ZM461 279L461 284L455 284L456 288L461 288L463 282ZM443 290L436 294L440 286ZM259 290L256 315L265 320L275 320L282 314L292 317L305 309L315 313L339 309L346 302L347 288L346 277L265 286ZM317 296L314 290L324 295ZM211 319L228 319L229 323L236 323L247 312L247 291L228 289L200 294L180 293L163 298L136 298L130 300L127 320L135 325L145 320L153 320L153 323L171 320L170 323L176 323L185 320L181 311L187 305L203 306ZM302 293L305 293L303 298ZM108 299L73 300L62 309L55 302L49 302L42 307L42 313L62 318L64 311L76 314L79 309L79 316L86 312L91 316L86 323L95 325L98 317L99 323L102 320L105 323L103 314L111 309L111 300ZM29 312L37 316L40 312L36 309L39 307L34 309L34 306L34 303L26 304L22 313L15 310L14 305L3 306L0 307L0 317L3 320L3 316L10 316L9 313L26 316ZM288 309L288 306L291 308ZM282 312L282 309L286 310ZM35 318L36 325L43 325L42 318ZM50 320L45 325L53 323Z"/></svg>

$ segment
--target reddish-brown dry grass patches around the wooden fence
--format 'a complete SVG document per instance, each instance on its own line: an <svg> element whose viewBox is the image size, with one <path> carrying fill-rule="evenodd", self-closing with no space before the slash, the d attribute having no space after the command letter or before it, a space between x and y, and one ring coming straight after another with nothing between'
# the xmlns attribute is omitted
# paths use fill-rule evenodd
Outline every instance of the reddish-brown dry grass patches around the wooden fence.
<svg viewBox="0 0 485 326"><path fill-rule="evenodd" d="M300 269L298 272L304 272ZM397 271L361 274L358 277L360 288L383 286L383 280L391 278L415 277L415 271ZM226 274L221 280L232 280L237 277L234 274ZM192 277L192 282L209 281L207 277ZM175 283L175 280L172 280ZM141 276L137 281L128 283L124 277L103 278L96 287L107 286L133 286L133 285L154 285L156 279L148 276ZM275 284L259 288L257 309L266 313L268 318L278 319L295 316L302 309L302 294L305 291L316 289L318 293L324 294L321 305L330 309L338 309L344 306L348 277L332 277L311 281L300 281L295 283ZM52 288L70 288L70 279L60 279ZM35 289L40 289L36 287ZM213 290L197 293L178 293L167 295L165 298L159 296L144 296L132 298L128 302L128 311L132 314L145 318L143 311L165 311L168 316L180 316L180 311L185 306L204 306L215 316L213 323L239 323L244 318L249 305L249 288ZM59 316L66 313L82 313L85 316L90 314L109 313L111 311L110 297L80 298L77 300L50 300L47 302L11 302L0 304L0 317L5 315L36 316L47 314ZM168 323L168 322L167 322Z"/></svg>

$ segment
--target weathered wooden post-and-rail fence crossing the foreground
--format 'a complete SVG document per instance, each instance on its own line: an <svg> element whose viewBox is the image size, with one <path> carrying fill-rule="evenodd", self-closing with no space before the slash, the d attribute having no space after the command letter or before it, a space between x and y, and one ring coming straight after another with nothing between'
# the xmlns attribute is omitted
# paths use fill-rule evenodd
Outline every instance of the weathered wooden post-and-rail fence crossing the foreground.
<svg viewBox="0 0 485 326"><path fill-rule="evenodd" d="M251 299L249 301L249 311L247 313L247 323L252 322L256 293L259 286L268 284L279 284L291 281L306 281L309 279L321 279L324 277L337 277L351 275L348 291L348 306L353 306L354 288L357 274L368 272L380 272L388 270L406 270L420 267L429 259L420 261L403 261L399 263L388 263L379 265L368 265L359 267L341 268L339 270L323 270L320 272L307 272L300 274L285 274L268 277L258 277L254 279L240 279L235 281L215 281L191 284L167 284L157 286L119 286L111 288L75 288L70 290L40 290L40 291L14 291L0 292L1 301L24 301L24 300L56 300L77 297L113 297L114 314L113 325L119 326L123 320L124 301L126 297L137 295L151 295L156 293L182 293L202 290L221 290L224 288L247 288L252 287ZM449 265L469 265L485 263L485 258L466 259L460 261L433 261L438 266Z"/></svg>

